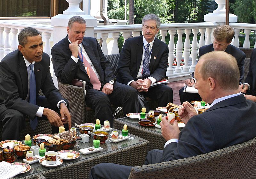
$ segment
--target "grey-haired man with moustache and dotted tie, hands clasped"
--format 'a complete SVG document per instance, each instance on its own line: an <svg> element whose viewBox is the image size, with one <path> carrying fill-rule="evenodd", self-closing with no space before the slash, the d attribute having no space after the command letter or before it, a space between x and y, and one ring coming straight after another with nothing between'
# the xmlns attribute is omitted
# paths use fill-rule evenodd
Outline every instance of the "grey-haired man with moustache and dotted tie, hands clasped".
<svg viewBox="0 0 256 179"><path fill-rule="evenodd" d="M132 86L140 95L157 100L159 107L165 107L173 100L172 88L165 84L150 88L151 84L163 79L167 71L168 46L155 38L160 23L155 14L148 14L142 19L143 35L125 40L117 81ZM147 106L145 102L144 105Z"/></svg>

